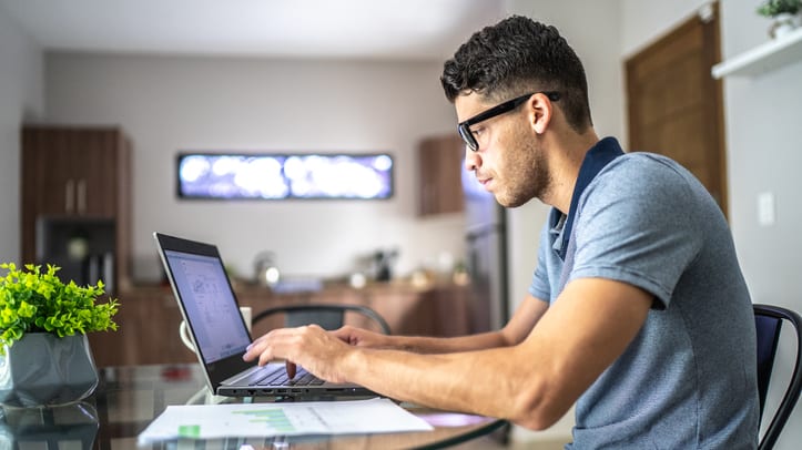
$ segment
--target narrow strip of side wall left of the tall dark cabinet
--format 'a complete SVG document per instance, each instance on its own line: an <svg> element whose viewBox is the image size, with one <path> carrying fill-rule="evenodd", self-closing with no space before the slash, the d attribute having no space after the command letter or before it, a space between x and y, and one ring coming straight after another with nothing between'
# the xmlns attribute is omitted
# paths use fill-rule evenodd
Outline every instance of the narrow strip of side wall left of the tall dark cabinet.
<svg viewBox="0 0 802 450"><path fill-rule="evenodd" d="M0 262L20 257L20 124L42 114L42 55L0 7Z"/></svg>

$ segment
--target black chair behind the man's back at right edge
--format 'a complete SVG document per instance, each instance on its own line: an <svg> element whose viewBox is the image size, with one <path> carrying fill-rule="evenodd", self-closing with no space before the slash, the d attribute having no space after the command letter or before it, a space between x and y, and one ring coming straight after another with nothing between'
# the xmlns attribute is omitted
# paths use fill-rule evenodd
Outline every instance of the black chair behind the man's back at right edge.
<svg viewBox="0 0 802 450"><path fill-rule="evenodd" d="M793 375L782 396L782 401L771 419L771 425L763 433L760 440L760 450L771 449L774 447L776 439L780 437L785 422L796 406L796 400L802 390L802 318L800 315L779 306L772 305L753 305L754 323L758 330L758 393L760 396L760 417L763 418L763 408L765 406L765 397L769 392L769 381L771 380L771 371L774 367L774 356L776 355L778 344L780 341L780 329L782 323L788 321L794 327L796 336L796 361L793 368Z"/></svg>

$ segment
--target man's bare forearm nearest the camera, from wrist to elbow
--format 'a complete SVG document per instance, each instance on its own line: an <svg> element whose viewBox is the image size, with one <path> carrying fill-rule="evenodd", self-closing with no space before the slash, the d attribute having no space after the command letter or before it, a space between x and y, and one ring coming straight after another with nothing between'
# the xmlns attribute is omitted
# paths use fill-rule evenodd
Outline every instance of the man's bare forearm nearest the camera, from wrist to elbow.
<svg viewBox="0 0 802 450"><path fill-rule="evenodd" d="M552 391L546 379L550 370L548 365L538 364L539 356L525 357L521 350L507 347L424 355L354 348L348 356L338 358L338 370L344 379L396 400L532 427L532 417L542 417L551 409L542 401L547 398L538 395ZM534 364L516 372L521 360ZM559 377L551 379L559 381ZM540 423L540 428L550 425L539 419L534 423Z"/></svg>

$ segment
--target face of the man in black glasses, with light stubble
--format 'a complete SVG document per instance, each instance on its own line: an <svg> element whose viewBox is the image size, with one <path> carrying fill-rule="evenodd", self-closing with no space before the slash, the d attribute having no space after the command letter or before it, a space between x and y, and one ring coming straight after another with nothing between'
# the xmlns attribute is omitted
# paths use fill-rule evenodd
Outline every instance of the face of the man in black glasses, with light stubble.
<svg viewBox="0 0 802 450"><path fill-rule="evenodd" d="M481 102L471 93L455 101L457 117L463 122L495 104ZM525 204L532 197L544 198L551 186L549 165L541 140L531 127L529 102L507 114L470 127L479 147L466 147L465 168L506 207Z"/></svg>

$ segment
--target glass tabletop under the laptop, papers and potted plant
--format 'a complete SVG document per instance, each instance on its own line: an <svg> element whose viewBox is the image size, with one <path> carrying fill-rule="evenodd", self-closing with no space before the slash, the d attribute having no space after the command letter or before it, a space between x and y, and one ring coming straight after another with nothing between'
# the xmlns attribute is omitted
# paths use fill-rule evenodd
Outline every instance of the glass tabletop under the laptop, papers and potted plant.
<svg viewBox="0 0 802 450"><path fill-rule="evenodd" d="M95 392L58 408L0 409L2 449L434 449L488 434L500 419L403 403L434 431L378 434L173 440L138 447L136 437L169 405L203 403L209 390L197 365L110 367ZM237 400L229 400L237 401ZM254 401L258 401L255 399Z"/></svg>

